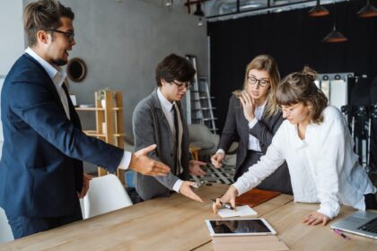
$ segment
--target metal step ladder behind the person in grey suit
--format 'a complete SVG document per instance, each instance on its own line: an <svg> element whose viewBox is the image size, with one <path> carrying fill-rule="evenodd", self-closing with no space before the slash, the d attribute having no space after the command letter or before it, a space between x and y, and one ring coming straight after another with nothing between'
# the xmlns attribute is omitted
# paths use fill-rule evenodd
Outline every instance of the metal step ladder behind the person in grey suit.
<svg viewBox="0 0 377 251"><path fill-rule="evenodd" d="M195 56L186 56L189 62L197 71L197 58ZM206 77L197 78L197 74L191 82L192 88L186 93L186 118L188 124L206 125L212 133L216 133L214 107L209 93L208 82Z"/></svg>

